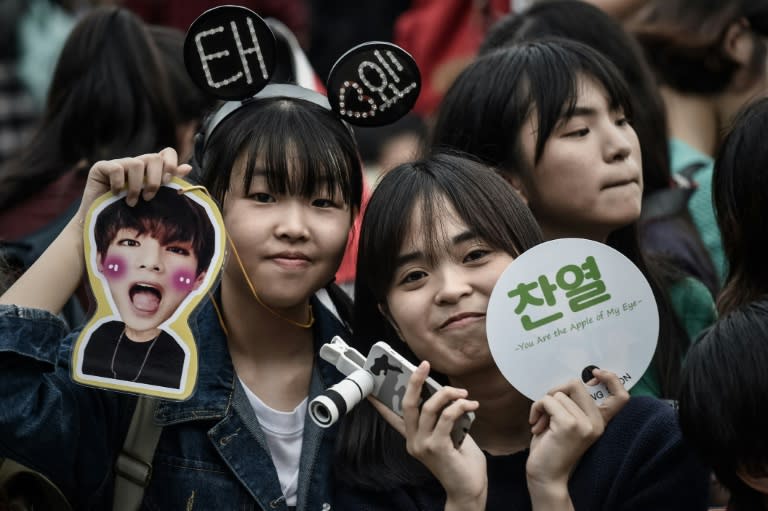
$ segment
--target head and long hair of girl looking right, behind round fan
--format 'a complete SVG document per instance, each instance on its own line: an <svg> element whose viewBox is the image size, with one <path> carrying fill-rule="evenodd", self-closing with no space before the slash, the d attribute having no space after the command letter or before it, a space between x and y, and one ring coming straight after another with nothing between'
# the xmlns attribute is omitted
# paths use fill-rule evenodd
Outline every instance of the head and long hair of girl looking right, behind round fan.
<svg viewBox="0 0 768 511"><path fill-rule="evenodd" d="M481 56L458 77L431 142L496 168L531 208L545 239L606 243L640 269L657 302L660 332L650 381L635 392L674 399L695 336L670 296L684 280L638 243L643 172L629 98L619 71L596 50L568 40L519 43ZM697 314L714 319L702 285L697 300L707 299Z"/></svg>

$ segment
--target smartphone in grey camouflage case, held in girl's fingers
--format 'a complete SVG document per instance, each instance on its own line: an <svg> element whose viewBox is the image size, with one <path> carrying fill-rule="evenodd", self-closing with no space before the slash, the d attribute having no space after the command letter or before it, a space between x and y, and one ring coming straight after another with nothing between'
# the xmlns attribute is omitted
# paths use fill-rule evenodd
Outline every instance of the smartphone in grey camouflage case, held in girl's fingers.
<svg viewBox="0 0 768 511"><path fill-rule="evenodd" d="M371 347L371 351L368 352L364 369L373 375L374 384L371 394L402 417L405 389L408 386L411 374L416 370L416 366L392 349L387 343L380 341L374 344ZM421 387L419 406L421 407L424 401L441 388L442 385L434 379L427 377L424 385ZM457 449L464 441L464 437L467 436L467 432L474 420L474 412L467 412L454 423L451 430L451 440L453 440L453 445Z"/></svg>

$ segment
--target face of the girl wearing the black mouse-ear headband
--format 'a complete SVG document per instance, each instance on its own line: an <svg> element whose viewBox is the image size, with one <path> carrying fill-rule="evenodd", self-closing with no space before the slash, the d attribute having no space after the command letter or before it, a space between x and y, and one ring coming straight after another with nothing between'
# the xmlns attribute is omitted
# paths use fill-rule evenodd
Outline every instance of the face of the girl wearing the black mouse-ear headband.
<svg viewBox="0 0 768 511"><path fill-rule="evenodd" d="M350 206L340 190L322 186L310 196L271 190L258 164L245 190L238 177L243 161L238 165L224 201L227 232L259 298L286 317L306 321L309 297L331 281L344 255ZM252 299L235 258L229 259L224 278Z"/></svg>

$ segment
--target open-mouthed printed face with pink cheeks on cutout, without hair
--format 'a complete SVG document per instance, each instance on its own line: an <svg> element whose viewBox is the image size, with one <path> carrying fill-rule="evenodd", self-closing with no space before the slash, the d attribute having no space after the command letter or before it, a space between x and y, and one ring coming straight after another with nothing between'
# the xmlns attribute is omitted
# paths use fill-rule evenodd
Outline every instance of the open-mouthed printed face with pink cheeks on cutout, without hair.
<svg viewBox="0 0 768 511"><path fill-rule="evenodd" d="M135 341L157 335L157 327L205 276L197 273L191 242L163 244L131 228L119 229L98 260L126 333Z"/></svg>

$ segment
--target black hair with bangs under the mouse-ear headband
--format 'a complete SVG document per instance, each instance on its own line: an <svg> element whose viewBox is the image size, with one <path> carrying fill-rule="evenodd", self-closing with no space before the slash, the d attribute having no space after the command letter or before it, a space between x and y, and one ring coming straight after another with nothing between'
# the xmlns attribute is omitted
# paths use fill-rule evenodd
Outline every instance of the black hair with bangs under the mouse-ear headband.
<svg viewBox="0 0 768 511"><path fill-rule="evenodd" d="M203 184L219 201L235 179L247 193L258 175L276 194L322 195L350 209L362 200L352 133L330 111L301 99L257 100L235 111L211 135L203 171Z"/></svg>

